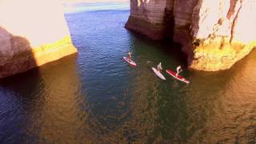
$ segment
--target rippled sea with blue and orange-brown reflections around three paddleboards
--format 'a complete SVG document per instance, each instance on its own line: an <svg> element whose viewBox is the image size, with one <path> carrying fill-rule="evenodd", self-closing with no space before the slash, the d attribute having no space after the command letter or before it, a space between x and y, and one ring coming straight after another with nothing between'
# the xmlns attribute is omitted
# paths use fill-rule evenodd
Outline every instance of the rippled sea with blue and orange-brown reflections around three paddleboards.
<svg viewBox="0 0 256 144"><path fill-rule="evenodd" d="M255 50L230 70L184 70L190 85L162 82L149 66L185 66L179 47L126 30L128 4L98 6L66 14L78 55L0 81L0 143L256 142Z"/></svg>

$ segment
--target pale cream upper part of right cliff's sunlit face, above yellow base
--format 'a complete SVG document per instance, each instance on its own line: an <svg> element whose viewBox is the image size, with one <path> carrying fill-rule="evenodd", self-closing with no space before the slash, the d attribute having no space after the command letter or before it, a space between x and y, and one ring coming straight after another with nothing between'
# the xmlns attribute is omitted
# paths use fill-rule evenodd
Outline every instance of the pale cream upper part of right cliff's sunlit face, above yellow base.
<svg viewBox="0 0 256 144"><path fill-rule="evenodd" d="M195 38L208 38L209 34L214 34L232 37L245 43L254 41L255 6L256 2L253 0L199 0L193 10L192 33Z"/></svg>

